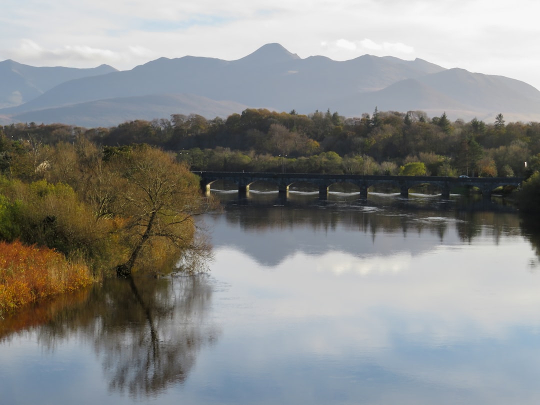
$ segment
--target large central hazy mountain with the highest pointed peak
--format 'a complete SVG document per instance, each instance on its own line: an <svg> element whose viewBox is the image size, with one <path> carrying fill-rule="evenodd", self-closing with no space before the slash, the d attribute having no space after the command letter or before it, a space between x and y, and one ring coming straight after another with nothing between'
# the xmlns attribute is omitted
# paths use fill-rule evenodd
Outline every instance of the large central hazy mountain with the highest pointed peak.
<svg viewBox="0 0 540 405"><path fill-rule="evenodd" d="M191 56L160 58L130 71L72 80L2 113L159 93L197 94L307 112L312 101L321 96L335 98L344 92L382 89L397 80L425 74L411 66L369 55L346 62L301 59L279 44L268 44L230 62Z"/></svg>

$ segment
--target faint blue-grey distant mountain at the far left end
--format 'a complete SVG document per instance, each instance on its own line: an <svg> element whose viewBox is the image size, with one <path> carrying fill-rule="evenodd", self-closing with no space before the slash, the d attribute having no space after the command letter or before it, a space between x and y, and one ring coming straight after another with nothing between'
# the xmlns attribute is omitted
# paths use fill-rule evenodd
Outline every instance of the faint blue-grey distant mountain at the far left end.
<svg viewBox="0 0 540 405"><path fill-rule="evenodd" d="M92 69L23 65L13 60L0 62L0 107L16 106L38 97L60 83L116 71L108 65Z"/></svg>

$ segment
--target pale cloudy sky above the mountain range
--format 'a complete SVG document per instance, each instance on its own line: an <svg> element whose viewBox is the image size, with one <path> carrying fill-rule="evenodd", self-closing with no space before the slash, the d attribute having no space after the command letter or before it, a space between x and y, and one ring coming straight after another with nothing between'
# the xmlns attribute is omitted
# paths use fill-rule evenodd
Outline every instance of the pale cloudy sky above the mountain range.
<svg viewBox="0 0 540 405"><path fill-rule="evenodd" d="M0 61L119 70L160 57L421 58L540 89L536 0L2 0Z"/></svg>

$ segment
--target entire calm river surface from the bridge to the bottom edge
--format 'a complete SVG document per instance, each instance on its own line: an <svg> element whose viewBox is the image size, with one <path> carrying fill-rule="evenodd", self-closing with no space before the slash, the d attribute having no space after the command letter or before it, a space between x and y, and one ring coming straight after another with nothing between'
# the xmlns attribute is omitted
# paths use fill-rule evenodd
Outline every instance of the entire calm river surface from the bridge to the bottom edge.
<svg viewBox="0 0 540 405"><path fill-rule="evenodd" d="M517 213L220 197L210 273L0 321L0 403L540 403L540 237Z"/></svg>

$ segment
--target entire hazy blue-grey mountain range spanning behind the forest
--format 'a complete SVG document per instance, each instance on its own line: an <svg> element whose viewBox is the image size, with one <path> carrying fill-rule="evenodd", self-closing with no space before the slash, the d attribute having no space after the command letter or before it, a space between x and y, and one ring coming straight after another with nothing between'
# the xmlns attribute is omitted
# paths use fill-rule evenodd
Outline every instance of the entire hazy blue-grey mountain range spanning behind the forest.
<svg viewBox="0 0 540 405"><path fill-rule="evenodd" d="M540 122L540 91L504 76L445 69L426 60L300 58L266 44L238 60L159 58L131 70L33 67L0 62L0 123L84 127L171 114L227 117L246 108L346 117L421 110L429 117Z"/></svg>

